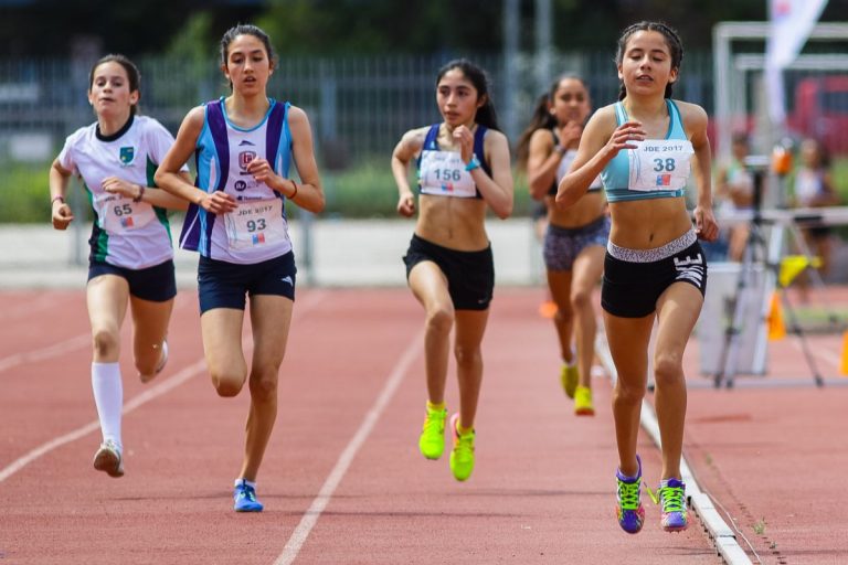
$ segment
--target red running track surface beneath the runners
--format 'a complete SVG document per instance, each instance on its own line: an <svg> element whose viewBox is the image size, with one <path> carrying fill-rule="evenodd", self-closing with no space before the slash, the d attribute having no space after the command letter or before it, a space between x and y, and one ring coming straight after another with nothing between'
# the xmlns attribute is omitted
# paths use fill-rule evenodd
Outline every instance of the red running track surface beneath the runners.
<svg viewBox="0 0 848 565"><path fill-rule="evenodd" d="M661 532L656 507L639 535L618 529L610 383L595 381L595 418L572 415L559 388L553 328L537 315L540 297L537 289L497 292L484 343L477 468L458 483L447 454L426 461L417 452L423 316L409 290L301 290L258 478L266 511L245 515L232 512L231 490L246 391L222 399L208 382L195 295L177 299L160 377L141 385L124 360L127 475L110 479L91 467L99 430L83 292L0 294L0 565L718 563L697 523ZM740 512L751 537L738 507L765 519L765 540L752 543L776 543L780 563L848 558L840 504L827 490L848 465L835 433L846 392L801 392L828 399L818 412L833 411L833 429L812 441L805 435L816 425L801 415L783 422L775 406L778 415L761 416L762 391L690 393L687 441L699 481ZM448 406L456 405L452 372ZM646 435L640 441L653 484L659 451ZM788 457L798 443L809 470L770 457ZM830 460L812 452L825 447ZM828 469L828 484L810 488L815 468Z"/></svg>

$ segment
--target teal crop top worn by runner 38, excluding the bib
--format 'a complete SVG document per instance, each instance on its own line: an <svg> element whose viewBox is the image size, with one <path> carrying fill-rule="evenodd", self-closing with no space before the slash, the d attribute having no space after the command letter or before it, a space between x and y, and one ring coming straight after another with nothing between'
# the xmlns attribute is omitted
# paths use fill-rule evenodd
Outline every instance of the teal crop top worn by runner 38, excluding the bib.
<svg viewBox="0 0 848 565"><path fill-rule="evenodd" d="M668 107L668 115L670 118L666 139L680 139L689 141L689 138L686 135L686 130L683 129L683 121L680 118L680 110L677 108L677 105L670 98L666 98L666 106ZM624 109L624 105L621 102L617 102L615 103L616 126L621 126L625 121L627 121L627 113ZM606 167L604 167L603 171L601 171L601 180L604 183L607 202L668 199L680 198L683 195L682 188L678 190L653 190L649 192L630 190L630 151L633 150L627 149L618 151L618 154L616 154L608 163L606 163Z"/></svg>

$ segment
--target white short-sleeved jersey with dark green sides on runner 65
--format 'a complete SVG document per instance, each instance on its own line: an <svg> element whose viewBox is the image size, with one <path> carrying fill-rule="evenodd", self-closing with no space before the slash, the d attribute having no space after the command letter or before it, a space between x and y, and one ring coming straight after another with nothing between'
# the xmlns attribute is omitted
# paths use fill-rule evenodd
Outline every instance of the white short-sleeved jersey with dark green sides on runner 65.
<svg viewBox="0 0 848 565"><path fill-rule="evenodd" d="M94 122L67 137L59 164L83 180L94 210L89 260L142 269L173 258L165 209L102 188L108 177L156 186L153 173L171 145L173 136L146 116L130 117L114 136L98 135Z"/></svg>

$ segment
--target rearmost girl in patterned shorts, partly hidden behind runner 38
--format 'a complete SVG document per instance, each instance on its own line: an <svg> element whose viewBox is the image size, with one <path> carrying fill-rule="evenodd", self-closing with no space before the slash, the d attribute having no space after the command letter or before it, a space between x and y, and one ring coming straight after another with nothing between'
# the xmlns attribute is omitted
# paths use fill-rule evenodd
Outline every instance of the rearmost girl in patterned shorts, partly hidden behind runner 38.
<svg viewBox="0 0 848 565"><path fill-rule="evenodd" d="M597 317L592 292L604 269L610 217L600 178L573 206L558 207L553 199L577 154L591 109L586 84L577 76L562 76L536 107L518 145L519 166L527 169L530 194L544 200L548 209L543 253L548 287L556 303L553 323L563 360L560 381L569 398L574 398L574 413L580 416L595 413L591 371Z"/></svg>

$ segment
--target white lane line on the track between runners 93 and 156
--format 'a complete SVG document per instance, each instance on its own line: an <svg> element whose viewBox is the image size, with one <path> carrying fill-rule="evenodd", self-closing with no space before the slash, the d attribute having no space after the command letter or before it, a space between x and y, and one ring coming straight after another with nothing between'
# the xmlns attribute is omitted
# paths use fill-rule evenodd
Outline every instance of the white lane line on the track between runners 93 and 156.
<svg viewBox="0 0 848 565"><path fill-rule="evenodd" d="M318 519L327 508L327 504L330 503L332 494L336 492L339 483L344 478L344 473L348 472L348 468L350 468L350 465L357 457L357 452L359 451L360 447L362 447L362 444L365 443L368 436L371 435L371 431L374 429L380 415L392 399L392 396L394 396L394 393L400 386L401 382L403 382L403 377L406 375L406 371L409 371L410 365L412 365L415 359L418 358L423 349L424 330L422 329L415 334L412 342L406 345L406 350L401 355L398 364L394 365L394 369L392 369L392 372L386 379L382 391L380 391L380 395L377 397L377 401L374 401L373 406L371 406L371 409L368 411L368 414L365 414L365 417L362 420L362 424L359 426L359 429L344 447L344 450L336 461L336 466L324 481L321 490L312 500L309 509L304 513L304 516L300 519L300 523L297 524L297 527L295 527L295 531L292 533L288 542L286 542L286 546L283 548L283 553L279 554L277 559L274 562L274 565L290 565L297 558L298 554L300 553L300 548L309 537L309 533L312 531L312 527L315 527L315 524L318 523Z"/></svg>

